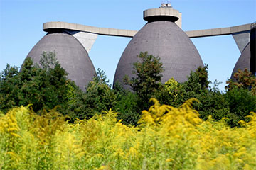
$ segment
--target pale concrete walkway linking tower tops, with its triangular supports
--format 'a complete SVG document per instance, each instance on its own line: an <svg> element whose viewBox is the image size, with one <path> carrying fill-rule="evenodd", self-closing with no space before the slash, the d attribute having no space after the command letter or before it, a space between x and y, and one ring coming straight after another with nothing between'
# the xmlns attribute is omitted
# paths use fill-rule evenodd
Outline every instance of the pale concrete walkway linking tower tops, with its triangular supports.
<svg viewBox="0 0 256 170"><path fill-rule="evenodd" d="M232 26L225 28L213 28L206 30L189 30L185 31L189 38L203 38L210 36L232 35L240 52L245 49L245 46L250 42L250 29L252 23L247 23L240 26ZM181 26L180 26L181 27ZM43 23L43 30L51 32L52 30L62 29L70 35L78 39L85 47L87 52L90 52L92 45L97 39L97 35L109 35L117 37L133 38L137 30L123 30L114 28L100 28L95 26L85 26L77 23L65 22L47 22Z"/></svg>

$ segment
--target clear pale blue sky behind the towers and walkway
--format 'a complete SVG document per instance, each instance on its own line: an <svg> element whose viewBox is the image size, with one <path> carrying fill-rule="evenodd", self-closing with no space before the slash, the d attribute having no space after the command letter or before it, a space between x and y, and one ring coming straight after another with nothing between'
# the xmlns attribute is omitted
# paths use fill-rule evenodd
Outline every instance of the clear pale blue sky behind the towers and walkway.
<svg viewBox="0 0 256 170"><path fill-rule="evenodd" d="M46 34L43 23L64 21L88 26L139 30L145 9L159 8L161 0L0 0L0 71L6 64L21 66L28 52ZM171 0L183 14L183 30L238 26L256 21L256 0ZM131 38L99 35L89 56L112 82L124 48ZM240 56L231 35L194 38L211 81L230 77Z"/></svg>

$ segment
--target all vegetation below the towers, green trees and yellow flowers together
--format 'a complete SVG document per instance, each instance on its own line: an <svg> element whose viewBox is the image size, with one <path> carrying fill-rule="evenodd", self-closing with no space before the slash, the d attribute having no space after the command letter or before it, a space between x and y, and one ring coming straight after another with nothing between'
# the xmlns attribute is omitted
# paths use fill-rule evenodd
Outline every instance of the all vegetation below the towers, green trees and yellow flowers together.
<svg viewBox="0 0 256 170"><path fill-rule="evenodd" d="M54 52L7 65L0 169L256 169L255 76L239 71L220 91L206 65L161 84L159 57L138 57L132 91L100 69L81 91Z"/></svg>

